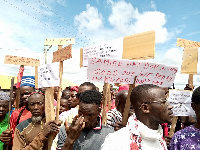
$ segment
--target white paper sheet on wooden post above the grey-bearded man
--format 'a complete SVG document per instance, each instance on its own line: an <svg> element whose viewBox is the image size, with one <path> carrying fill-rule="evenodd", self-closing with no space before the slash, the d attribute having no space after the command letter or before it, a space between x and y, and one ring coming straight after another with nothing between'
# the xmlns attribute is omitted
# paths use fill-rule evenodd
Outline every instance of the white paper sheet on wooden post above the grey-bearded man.
<svg viewBox="0 0 200 150"><path fill-rule="evenodd" d="M59 63L38 66L38 87L60 86Z"/></svg>

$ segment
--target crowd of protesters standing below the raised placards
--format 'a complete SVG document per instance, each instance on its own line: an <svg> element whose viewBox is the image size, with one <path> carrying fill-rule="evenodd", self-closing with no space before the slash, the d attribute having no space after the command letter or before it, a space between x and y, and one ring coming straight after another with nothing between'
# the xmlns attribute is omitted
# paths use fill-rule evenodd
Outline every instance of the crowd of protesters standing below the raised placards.
<svg viewBox="0 0 200 150"><path fill-rule="evenodd" d="M136 86L130 95L128 121L124 124L129 86L117 89L111 86L111 106L106 106L107 122L103 124L103 94L93 83L84 82L62 90L59 121L46 122L45 88L36 89L33 79L22 77L18 109L14 107L16 88L13 98L0 90L0 150L200 149L200 87L192 94L195 118L180 116L171 136L168 133L174 116L166 89L152 84ZM55 107L57 92L55 87ZM52 144L48 141L50 136L54 139Z"/></svg>

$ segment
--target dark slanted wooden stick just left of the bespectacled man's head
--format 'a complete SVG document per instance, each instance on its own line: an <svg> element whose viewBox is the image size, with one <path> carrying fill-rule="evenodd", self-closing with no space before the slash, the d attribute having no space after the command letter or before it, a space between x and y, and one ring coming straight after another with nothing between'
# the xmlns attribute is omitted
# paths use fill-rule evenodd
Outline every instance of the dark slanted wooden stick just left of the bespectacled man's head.
<svg viewBox="0 0 200 150"><path fill-rule="evenodd" d="M137 78L137 76L135 76L133 84L129 84L128 96L126 99L126 105L125 105L123 116L122 116L122 123L124 125L126 125L126 123L128 121L128 115L129 115L130 106L131 106L130 96L131 96L131 92L132 92L133 88L135 88L136 78Z"/></svg>

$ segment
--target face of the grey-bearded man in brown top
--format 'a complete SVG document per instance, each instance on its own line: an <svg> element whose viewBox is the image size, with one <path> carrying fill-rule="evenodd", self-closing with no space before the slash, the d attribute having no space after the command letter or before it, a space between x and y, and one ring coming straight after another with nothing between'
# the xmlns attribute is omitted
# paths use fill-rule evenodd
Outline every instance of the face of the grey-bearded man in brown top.
<svg viewBox="0 0 200 150"><path fill-rule="evenodd" d="M38 117L44 116L45 113L45 102L42 94L33 94L28 99L28 107L32 116Z"/></svg>

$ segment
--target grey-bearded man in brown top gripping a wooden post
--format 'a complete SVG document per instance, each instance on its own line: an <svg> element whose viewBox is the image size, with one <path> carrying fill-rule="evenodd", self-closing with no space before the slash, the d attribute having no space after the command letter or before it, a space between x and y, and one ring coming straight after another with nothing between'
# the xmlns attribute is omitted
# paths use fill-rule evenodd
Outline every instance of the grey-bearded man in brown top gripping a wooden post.
<svg viewBox="0 0 200 150"><path fill-rule="evenodd" d="M48 149L47 139L50 134L58 133L59 124L55 121L45 124L45 98L42 92L30 94L28 107L32 117L17 125L13 149Z"/></svg>

